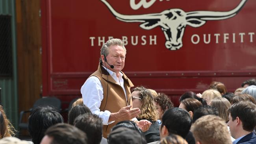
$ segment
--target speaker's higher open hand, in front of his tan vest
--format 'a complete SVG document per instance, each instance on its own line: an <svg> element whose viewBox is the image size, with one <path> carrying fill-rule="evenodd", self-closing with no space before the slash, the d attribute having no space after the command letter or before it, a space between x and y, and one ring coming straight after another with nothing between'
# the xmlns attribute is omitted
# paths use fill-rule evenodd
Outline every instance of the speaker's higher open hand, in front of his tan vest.
<svg viewBox="0 0 256 144"><path fill-rule="evenodd" d="M141 113L139 108L130 109L132 105L122 107L117 113L111 113L109 116L109 122L114 120L130 120L138 116Z"/></svg>

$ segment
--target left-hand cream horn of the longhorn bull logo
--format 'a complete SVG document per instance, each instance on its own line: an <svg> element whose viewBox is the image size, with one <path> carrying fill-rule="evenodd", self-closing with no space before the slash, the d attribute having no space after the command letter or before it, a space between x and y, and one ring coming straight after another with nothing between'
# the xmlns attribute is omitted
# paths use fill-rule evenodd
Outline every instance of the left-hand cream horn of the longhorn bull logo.
<svg viewBox="0 0 256 144"><path fill-rule="evenodd" d="M113 13L113 15L117 19L124 22L145 22L146 20L149 20L149 19L159 19L161 15L159 13L151 13L151 14L143 14L143 15L122 15L117 11L115 11L115 9L113 9L113 7L106 0L100 0L100 1L102 1L108 7L108 9L111 11L111 13Z"/></svg>

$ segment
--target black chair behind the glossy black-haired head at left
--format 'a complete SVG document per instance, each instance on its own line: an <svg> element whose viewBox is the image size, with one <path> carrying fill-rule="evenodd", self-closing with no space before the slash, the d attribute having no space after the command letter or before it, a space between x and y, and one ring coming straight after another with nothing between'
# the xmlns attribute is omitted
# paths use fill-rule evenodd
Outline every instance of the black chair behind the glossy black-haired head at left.
<svg viewBox="0 0 256 144"><path fill-rule="evenodd" d="M55 107L58 111L61 111L61 101L55 97L44 97L37 100L33 107L27 111L20 112L20 119L19 119L19 128L20 129L28 129L28 123L22 123L22 117L25 113L31 113L33 108L39 106L52 106Z"/></svg>

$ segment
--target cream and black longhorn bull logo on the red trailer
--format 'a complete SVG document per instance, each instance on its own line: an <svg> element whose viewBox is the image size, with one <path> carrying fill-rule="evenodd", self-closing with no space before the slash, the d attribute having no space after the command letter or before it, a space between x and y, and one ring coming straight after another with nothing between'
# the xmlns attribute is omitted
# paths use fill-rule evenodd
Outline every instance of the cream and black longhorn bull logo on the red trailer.
<svg viewBox="0 0 256 144"><path fill-rule="evenodd" d="M141 22L139 26L145 30L151 30L157 26L161 27L165 35L165 47L169 50L178 50L182 47L182 37L187 25L198 28L207 20L224 20L234 17L244 6L247 0L241 0L239 5L231 11L190 11L182 9L169 9L161 13L150 13L143 15L122 15L115 11L106 1L101 0L111 13L123 22Z"/></svg>

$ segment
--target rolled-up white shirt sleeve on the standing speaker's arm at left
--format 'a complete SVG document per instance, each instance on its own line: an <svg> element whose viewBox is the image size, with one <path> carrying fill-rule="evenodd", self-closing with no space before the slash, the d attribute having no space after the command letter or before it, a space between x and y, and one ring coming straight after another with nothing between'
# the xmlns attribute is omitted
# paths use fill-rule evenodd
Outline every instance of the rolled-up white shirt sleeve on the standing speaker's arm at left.
<svg viewBox="0 0 256 144"><path fill-rule="evenodd" d="M104 125L111 124L115 121L108 122L110 111L100 111L100 104L103 100L103 88L100 79L96 76L88 78L81 87L81 94L83 97L83 104L86 105L93 114L97 114L102 118Z"/></svg>

